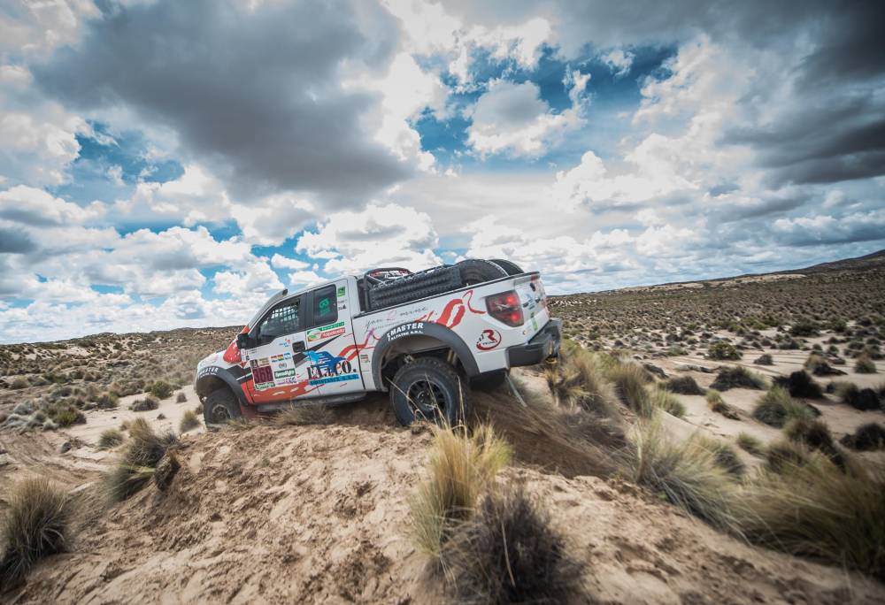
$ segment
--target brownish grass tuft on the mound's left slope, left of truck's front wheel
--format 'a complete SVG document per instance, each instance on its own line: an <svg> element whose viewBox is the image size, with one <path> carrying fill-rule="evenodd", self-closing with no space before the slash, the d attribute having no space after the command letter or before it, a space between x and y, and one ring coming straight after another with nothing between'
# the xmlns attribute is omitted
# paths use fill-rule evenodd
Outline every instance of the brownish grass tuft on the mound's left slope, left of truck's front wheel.
<svg viewBox="0 0 885 605"><path fill-rule="evenodd" d="M143 418L129 423L129 440L117 465L105 476L112 502L121 502L139 491L153 475L168 448L178 441L174 433L154 433Z"/></svg>

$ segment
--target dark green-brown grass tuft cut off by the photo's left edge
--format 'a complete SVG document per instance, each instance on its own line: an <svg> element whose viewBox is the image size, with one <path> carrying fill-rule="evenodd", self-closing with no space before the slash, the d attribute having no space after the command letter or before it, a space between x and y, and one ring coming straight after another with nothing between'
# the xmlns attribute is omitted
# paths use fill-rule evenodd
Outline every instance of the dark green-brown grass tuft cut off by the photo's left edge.
<svg viewBox="0 0 885 605"><path fill-rule="evenodd" d="M8 508L0 523L0 586L18 586L38 560L63 552L73 506L67 494L48 479L23 479L6 494Z"/></svg>

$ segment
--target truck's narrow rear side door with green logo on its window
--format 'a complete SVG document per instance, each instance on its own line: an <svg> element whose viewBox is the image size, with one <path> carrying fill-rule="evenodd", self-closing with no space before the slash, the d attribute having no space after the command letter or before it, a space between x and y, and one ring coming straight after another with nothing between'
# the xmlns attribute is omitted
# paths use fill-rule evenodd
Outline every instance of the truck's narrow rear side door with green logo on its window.
<svg viewBox="0 0 885 605"><path fill-rule="evenodd" d="M348 281L313 291L312 318L305 333L309 384L324 397L364 390L359 356L350 321Z"/></svg>

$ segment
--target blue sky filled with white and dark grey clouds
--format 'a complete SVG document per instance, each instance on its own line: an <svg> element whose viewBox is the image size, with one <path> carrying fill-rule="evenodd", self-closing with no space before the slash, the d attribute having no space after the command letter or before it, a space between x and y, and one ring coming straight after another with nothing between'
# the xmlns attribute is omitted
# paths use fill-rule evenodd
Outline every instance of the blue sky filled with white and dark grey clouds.
<svg viewBox="0 0 885 605"><path fill-rule="evenodd" d="M0 341L378 264L553 293L885 248L885 4L0 4Z"/></svg>

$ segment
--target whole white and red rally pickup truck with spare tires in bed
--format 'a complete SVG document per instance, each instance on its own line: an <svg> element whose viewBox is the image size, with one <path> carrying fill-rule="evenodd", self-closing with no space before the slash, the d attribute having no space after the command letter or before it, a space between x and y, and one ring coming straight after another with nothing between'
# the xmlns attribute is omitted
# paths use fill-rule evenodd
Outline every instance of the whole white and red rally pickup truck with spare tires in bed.
<svg viewBox="0 0 885 605"><path fill-rule="evenodd" d="M380 267L273 295L196 368L206 425L388 392L396 419L457 425L472 387L558 356L538 272L468 259L421 272Z"/></svg>

